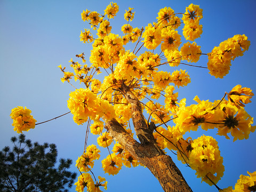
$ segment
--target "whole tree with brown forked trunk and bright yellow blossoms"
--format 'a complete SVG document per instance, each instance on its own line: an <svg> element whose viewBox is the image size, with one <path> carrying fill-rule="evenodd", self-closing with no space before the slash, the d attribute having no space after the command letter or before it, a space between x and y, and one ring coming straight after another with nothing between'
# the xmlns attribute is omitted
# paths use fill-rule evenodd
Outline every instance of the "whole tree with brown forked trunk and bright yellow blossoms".
<svg viewBox="0 0 256 192"><path fill-rule="evenodd" d="M237 85L219 100L204 101L196 96L197 104L187 106L186 99L178 100L177 90L190 83L190 77L185 70L172 73L169 70L188 65L208 68L211 75L223 78L229 73L231 60L242 56L249 49L250 41L245 35L235 35L210 53L202 53L201 46L194 42L202 34L199 21L203 14L198 5L190 4L185 13L175 13L165 7L159 10L155 22L140 29L130 25L134 11L129 7L124 14L127 23L121 28L122 35L111 33L110 21L117 12L116 3L110 3L102 14L83 11L82 19L93 29L92 33L84 29L80 35L83 43L92 43L91 65L86 64L85 54L81 53L76 55L79 61L69 61L74 73L59 66L64 74L63 83L74 86L70 82L73 77L82 83L82 88L74 86L75 91L68 100L74 122L87 124L85 148L76 163L81 172L75 183L77 191L100 191L101 186L107 189L106 179L100 176L96 179L93 173L100 150L95 143L87 143L90 133L98 135L98 145L109 152L102 159L105 173L115 175L123 165L146 166L164 191L191 191L167 155L172 151L182 163L196 171L198 178L220 189L217 182L224 166L217 141L205 135L193 140L185 137L185 133L197 131L201 126L205 131L218 129L217 134L227 139L231 135L234 141L248 139L255 126L244 107L251 102L252 90ZM181 44L177 31L180 26L187 43ZM207 67L188 64L197 62L201 55L208 57ZM100 81L102 74L105 76ZM22 133L37 125L30 113L26 107L12 110L15 131ZM235 191L255 188L256 173L249 174L251 177L243 176L237 182Z"/></svg>

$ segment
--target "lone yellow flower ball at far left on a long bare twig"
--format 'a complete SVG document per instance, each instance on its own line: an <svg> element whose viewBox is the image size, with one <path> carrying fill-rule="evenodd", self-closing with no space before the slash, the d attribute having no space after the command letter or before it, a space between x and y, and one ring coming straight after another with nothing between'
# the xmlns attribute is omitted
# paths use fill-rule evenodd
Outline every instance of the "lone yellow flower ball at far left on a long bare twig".
<svg viewBox="0 0 256 192"><path fill-rule="evenodd" d="M10 116L13 119L12 126L14 126L14 131L22 133L22 131L28 131L35 128L36 119L34 119L30 113L31 110L26 107L23 108L18 106L17 108L12 109Z"/></svg>

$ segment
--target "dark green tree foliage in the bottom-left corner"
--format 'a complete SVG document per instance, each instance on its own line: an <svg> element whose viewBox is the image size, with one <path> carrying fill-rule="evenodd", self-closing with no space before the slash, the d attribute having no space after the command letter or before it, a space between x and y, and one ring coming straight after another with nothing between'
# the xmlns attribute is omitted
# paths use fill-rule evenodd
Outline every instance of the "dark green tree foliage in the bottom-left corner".
<svg viewBox="0 0 256 192"><path fill-rule="evenodd" d="M19 139L12 137L11 141L12 151L10 147L0 151L0 192L62 192L68 191L66 187L71 188L76 173L67 170L72 161L61 158L55 168L57 148L54 144L33 144L24 134Z"/></svg>

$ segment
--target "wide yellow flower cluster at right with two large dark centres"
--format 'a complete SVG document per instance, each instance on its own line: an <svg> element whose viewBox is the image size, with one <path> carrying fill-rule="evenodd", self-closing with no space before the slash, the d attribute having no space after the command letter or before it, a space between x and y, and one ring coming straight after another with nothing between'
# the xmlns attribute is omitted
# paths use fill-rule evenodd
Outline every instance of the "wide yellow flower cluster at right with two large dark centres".
<svg viewBox="0 0 256 192"><path fill-rule="evenodd" d="M197 131L198 126L206 131L217 127L217 134L229 139L227 133L231 133L235 141L248 139L249 134L255 131L256 126L252 126L253 118L243 107L232 105L234 101L223 99L210 102L201 101L198 97L195 100L197 105L181 105L177 110L178 118L173 120L176 126L182 127L183 133Z"/></svg>

